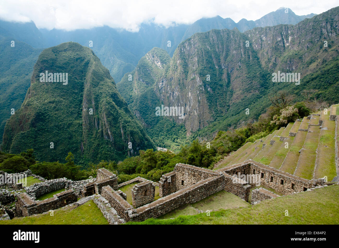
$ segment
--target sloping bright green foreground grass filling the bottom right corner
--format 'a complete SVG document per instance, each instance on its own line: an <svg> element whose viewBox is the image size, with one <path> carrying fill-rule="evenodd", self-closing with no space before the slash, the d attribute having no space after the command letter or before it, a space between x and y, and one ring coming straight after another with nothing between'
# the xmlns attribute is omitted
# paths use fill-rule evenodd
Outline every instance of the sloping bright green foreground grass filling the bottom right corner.
<svg viewBox="0 0 339 248"><path fill-rule="evenodd" d="M339 185L265 200L257 205L127 224L339 224ZM285 216L288 210L288 216Z"/></svg>

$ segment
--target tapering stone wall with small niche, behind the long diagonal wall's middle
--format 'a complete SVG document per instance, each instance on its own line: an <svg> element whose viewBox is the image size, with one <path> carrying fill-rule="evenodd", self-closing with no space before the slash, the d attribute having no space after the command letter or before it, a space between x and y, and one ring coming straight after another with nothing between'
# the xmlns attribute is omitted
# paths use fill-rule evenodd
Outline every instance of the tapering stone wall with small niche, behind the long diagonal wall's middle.
<svg viewBox="0 0 339 248"><path fill-rule="evenodd" d="M173 172L176 174L176 190L187 188L202 180L219 175L205 168L182 163L176 164Z"/></svg>

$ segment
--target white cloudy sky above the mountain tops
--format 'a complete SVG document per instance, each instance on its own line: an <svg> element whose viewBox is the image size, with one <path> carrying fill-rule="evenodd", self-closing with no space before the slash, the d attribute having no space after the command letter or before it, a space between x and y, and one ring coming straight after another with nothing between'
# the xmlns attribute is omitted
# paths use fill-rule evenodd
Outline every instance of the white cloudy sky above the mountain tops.
<svg viewBox="0 0 339 248"><path fill-rule="evenodd" d="M320 14L339 6L339 0L0 0L0 19L28 22L38 28L74 30L108 25L137 31L139 24L154 20L170 26L190 24L203 17L219 15L235 22L257 20L279 7L297 15Z"/></svg>

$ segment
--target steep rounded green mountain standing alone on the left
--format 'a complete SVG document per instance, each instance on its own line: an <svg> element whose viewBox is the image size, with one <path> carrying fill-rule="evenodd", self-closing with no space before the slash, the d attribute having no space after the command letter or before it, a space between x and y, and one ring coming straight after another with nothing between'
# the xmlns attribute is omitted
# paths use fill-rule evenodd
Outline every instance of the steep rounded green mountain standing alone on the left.
<svg viewBox="0 0 339 248"><path fill-rule="evenodd" d="M53 82L41 82L46 71ZM66 80L55 81L56 73ZM72 152L84 164L153 147L94 52L68 42L39 55L22 107L6 122L2 150L33 148L41 161L62 161Z"/></svg>

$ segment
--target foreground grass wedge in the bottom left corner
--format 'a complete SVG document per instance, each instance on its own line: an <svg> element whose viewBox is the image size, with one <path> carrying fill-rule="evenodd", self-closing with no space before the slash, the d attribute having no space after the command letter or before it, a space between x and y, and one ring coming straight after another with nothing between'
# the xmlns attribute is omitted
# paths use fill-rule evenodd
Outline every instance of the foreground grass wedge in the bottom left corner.
<svg viewBox="0 0 339 248"><path fill-rule="evenodd" d="M77 208L59 208L54 210L54 216L50 213L41 213L36 216L14 218L13 220L0 221L0 224L13 225L107 225L100 209L93 200Z"/></svg>

